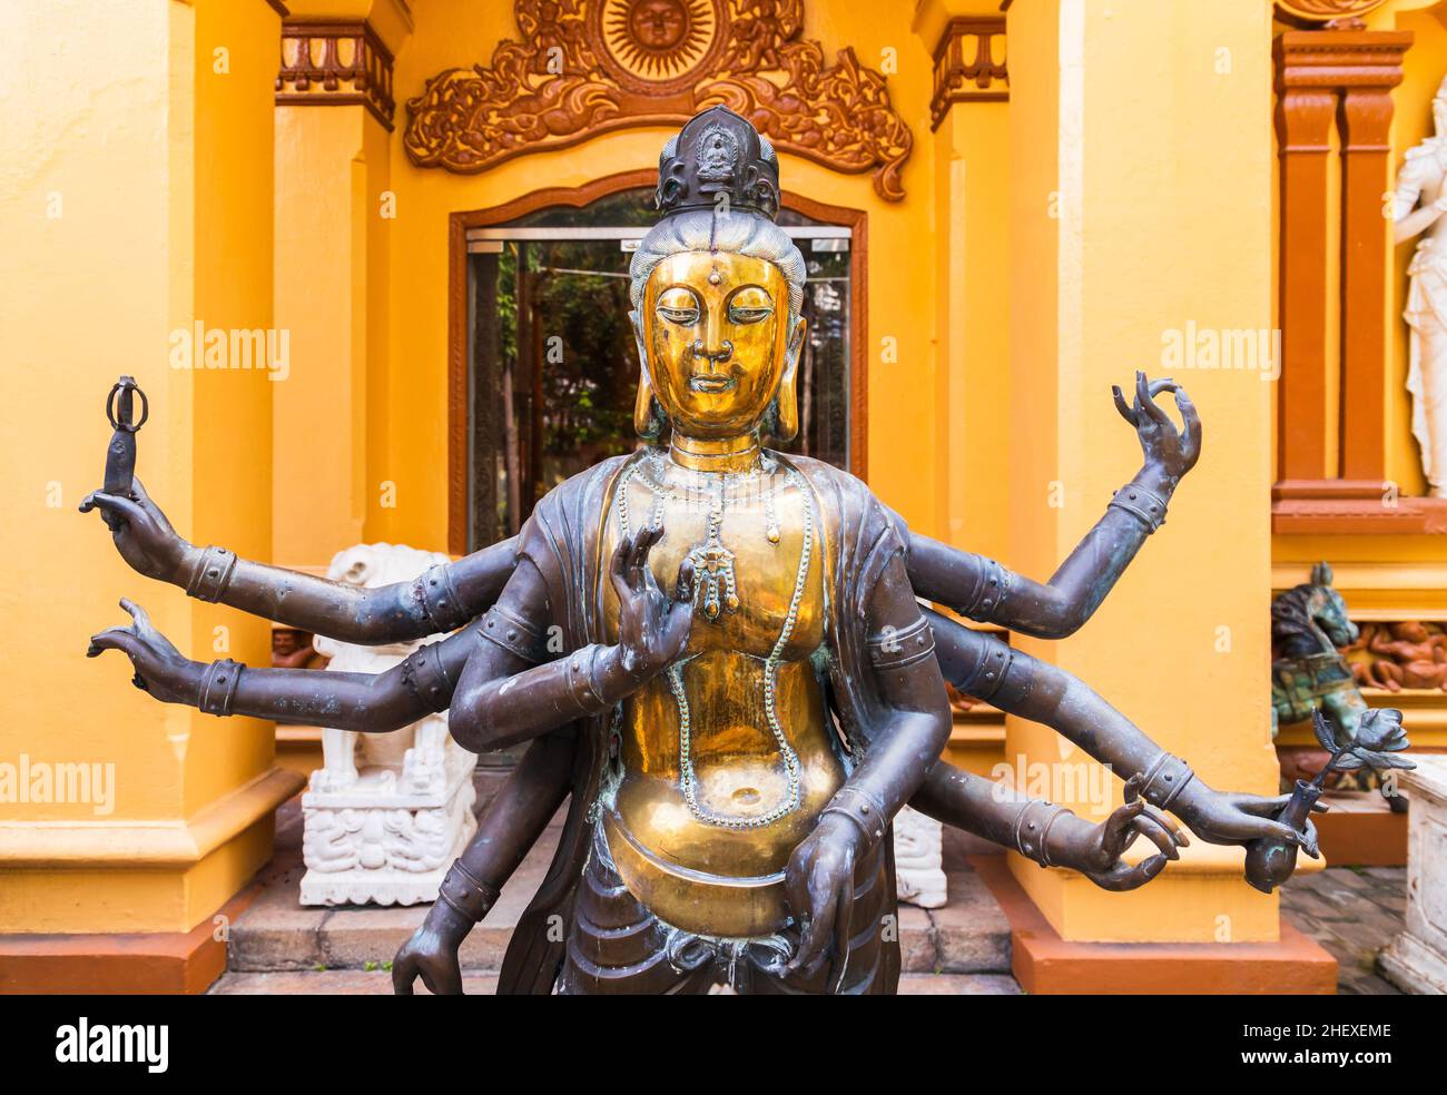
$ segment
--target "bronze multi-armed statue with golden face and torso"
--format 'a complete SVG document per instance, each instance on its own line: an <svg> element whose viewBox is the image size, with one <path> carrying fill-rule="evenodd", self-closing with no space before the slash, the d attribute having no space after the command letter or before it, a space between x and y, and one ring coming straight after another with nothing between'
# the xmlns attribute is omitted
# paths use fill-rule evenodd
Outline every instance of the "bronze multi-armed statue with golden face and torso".
<svg viewBox="0 0 1447 1095"><path fill-rule="evenodd" d="M1315 855L1310 820L1275 819L1283 798L1213 790L1071 674L916 600L1074 632L1195 464L1184 391L1139 373L1133 404L1116 391L1145 466L1049 584L1030 581L912 534L845 472L763 447L797 428L805 337L768 142L703 111L664 148L657 200L632 259L644 444L556 487L518 538L360 590L197 548L139 483L82 506L132 567L191 596L346 642L453 632L378 676L207 665L122 602L133 622L90 654L127 654L156 699L360 732L450 709L469 749L530 742L399 952L399 992L417 976L460 991L463 937L569 797L499 991L894 992L890 822L906 803L1110 890L1178 858L1168 811L1211 843ZM946 680L1108 764L1124 804L1092 825L941 761ZM1123 862L1139 836L1156 853Z"/></svg>

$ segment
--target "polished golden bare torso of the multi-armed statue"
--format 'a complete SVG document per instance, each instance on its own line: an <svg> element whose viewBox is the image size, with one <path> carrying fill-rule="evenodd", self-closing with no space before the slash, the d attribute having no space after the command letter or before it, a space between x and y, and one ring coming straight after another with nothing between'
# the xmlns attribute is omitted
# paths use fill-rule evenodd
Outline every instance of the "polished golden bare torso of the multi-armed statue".
<svg viewBox="0 0 1447 1095"><path fill-rule="evenodd" d="M683 658L624 704L621 778L603 811L609 851L628 890L664 921L703 934L768 934L787 917L789 856L845 778L810 661L825 641L832 529L820 528L802 477L777 463L726 479L666 460L631 467L601 560L618 544L621 509L634 531L661 519L664 537L650 557L658 584L671 592L697 548L699 593ZM732 553L732 595L719 547ZM615 642L618 600L605 584L603 622Z"/></svg>

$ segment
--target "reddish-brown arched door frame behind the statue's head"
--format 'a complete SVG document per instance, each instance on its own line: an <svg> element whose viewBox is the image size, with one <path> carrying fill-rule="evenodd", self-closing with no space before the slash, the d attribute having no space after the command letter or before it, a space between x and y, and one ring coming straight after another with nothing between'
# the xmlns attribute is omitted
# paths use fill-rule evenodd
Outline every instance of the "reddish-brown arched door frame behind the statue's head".
<svg viewBox="0 0 1447 1095"><path fill-rule="evenodd" d="M491 229L556 205L583 208L624 189L655 185L658 172L621 171L582 187L546 187L482 210L462 210L447 223L447 550L467 553L467 230ZM865 479L868 470L868 338L870 214L848 205L829 205L803 194L783 191L784 208L825 224L849 229L849 472ZM642 231L647 231L644 229Z"/></svg>

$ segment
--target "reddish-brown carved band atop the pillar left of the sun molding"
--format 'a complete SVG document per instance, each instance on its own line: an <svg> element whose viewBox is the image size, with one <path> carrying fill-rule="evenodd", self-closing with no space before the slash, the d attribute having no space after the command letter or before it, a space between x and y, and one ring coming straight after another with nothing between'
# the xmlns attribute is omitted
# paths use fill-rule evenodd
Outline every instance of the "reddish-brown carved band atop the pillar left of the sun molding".
<svg viewBox="0 0 1447 1095"><path fill-rule="evenodd" d="M295 22L281 27L279 106L366 107L392 132L392 52L362 22Z"/></svg>

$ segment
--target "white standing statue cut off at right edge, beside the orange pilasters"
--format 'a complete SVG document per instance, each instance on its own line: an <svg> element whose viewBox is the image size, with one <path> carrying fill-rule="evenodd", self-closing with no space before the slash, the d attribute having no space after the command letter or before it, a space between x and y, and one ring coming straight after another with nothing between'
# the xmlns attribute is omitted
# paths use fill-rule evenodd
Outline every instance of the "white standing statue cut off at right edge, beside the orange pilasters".
<svg viewBox="0 0 1447 1095"><path fill-rule="evenodd" d="M1422 236L1406 270L1402 312L1411 328L1406 391L1428 493L1447 498L1447 80L1433 97L1433 127L1396 172L1392 220L1398 243Z"/></svg>

